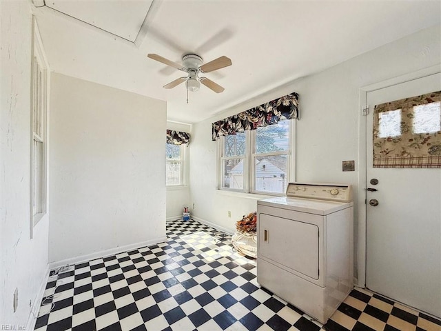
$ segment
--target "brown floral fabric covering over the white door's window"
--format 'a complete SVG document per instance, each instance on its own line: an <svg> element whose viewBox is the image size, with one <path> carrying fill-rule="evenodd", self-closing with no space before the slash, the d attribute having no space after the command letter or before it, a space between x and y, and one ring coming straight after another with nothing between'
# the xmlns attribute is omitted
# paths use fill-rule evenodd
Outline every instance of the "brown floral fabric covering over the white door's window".
<svg viewBox="0 0 441 331"><path fill-rule="evenodd" d="M441 91L375 106L373 168L441 168Z"/></svg>

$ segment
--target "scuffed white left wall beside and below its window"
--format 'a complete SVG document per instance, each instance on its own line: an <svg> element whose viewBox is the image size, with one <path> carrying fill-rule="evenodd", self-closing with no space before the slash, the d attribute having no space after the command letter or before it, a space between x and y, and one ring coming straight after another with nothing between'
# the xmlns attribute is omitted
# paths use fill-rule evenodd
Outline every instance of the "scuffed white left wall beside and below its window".
<svg viewBox="0 0 441 331"><path fill-rule="evenodd" d="M0 325L14 330L32 320L30 305L37 314L48 271L47 216L30 239L31 32L30 2L1 1ZM14 313L15 288L19 305Z"/></svg>

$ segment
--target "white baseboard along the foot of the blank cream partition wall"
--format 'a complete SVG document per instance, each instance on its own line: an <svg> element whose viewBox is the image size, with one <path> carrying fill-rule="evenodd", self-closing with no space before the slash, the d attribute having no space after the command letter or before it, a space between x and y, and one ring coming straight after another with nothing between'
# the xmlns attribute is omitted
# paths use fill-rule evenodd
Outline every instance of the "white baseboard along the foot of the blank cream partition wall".
<svg viewBox="0 0 441 331"><path fill-rule="evenodd" d="M156 239L150 239L147 241L141 241L140 243L131 243L130 245L119 246L116 248L111 248L110 250L100 250L99 252L94 252L91 254L81 255L80 257L72 257L71 259L65 259L61 261L55 261L49 263L50 270L54 268L59 268L63 265L71 265L76 263L83 263L94 259L99 259L101 257L109 257L114 254L119 254L122 252L127 252L127 250L134 250L136 248L156 245L157 243L163 243L167 241L167 237L160 237Z"/></svg>

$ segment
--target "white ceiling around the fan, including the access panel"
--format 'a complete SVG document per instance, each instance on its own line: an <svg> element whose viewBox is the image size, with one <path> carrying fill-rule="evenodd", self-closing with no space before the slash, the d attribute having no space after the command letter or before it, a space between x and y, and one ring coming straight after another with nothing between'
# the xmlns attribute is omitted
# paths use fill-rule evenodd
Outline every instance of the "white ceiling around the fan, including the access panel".
<svg viewBox="0 0 441 331"><path fill-rule="evenodd" d="M167 119L185 123L441 23L439 0L45 3L35 14L51 70L165 100ZM205 74L223 93L201 86L187 104L185 84L162 88L183 73L147 53L180 63L190 52L232 59Z"/></svg>

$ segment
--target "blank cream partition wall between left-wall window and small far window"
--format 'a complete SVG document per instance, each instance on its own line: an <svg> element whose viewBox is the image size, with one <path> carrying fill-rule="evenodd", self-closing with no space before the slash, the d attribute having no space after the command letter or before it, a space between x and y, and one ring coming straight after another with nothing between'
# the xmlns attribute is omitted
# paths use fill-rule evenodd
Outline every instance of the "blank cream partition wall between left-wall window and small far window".
<svg viewBox="0 0 441 331"><path fill-rule="evenodd" d="M52 74L49 260L165 239L166 104Z"/></svg>

